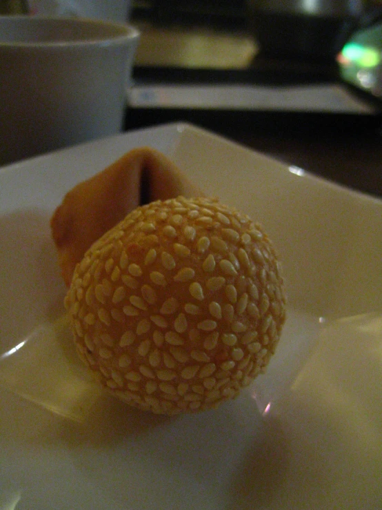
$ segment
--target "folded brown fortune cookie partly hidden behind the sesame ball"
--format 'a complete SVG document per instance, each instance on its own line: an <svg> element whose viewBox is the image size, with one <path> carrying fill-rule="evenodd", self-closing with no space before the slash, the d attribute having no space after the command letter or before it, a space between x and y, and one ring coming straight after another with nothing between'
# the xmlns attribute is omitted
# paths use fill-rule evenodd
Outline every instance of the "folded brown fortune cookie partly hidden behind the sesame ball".
<svg viewBox="0 0 382 510"><path fill-rule="evenodd" d="M77 184L55 210L50 226L66 286L84 253L112 226L139 206L202 195L170 159L149 147L130 150L94 177Z"/></svg>

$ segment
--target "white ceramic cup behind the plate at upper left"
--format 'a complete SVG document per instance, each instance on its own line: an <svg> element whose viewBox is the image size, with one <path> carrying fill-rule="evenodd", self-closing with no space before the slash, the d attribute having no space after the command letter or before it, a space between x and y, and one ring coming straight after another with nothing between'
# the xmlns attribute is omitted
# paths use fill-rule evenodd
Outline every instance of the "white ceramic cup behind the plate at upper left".
<svg viewBox="0 0 382 510"><path fill-rule="evenodd" d="M0 17L0 164L118 133L138 41L123 23Z"/></svg>

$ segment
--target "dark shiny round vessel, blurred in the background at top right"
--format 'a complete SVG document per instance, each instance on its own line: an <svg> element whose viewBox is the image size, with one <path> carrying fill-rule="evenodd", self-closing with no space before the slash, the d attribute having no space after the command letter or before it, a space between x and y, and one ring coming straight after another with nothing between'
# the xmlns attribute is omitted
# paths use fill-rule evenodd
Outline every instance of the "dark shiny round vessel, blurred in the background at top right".
<svg viewBox="0 0 382 510"><path fill-rule="evenodd" d="M363 14L361 0L247 0L261 51L271 57L332 58Z"/></svg>

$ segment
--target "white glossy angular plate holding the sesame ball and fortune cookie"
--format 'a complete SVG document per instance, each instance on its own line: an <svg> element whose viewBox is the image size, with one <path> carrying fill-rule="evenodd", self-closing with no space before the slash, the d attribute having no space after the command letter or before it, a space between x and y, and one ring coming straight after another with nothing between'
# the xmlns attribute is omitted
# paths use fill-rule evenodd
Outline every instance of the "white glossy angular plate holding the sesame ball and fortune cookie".
<svg viewBox="0 0 382 510"><path fill-rule="evenodd" d="M279 349L217 411L130 409L72 353L50 215L142 145L261 222L283 258ZM1 168L0 239L0 509L381 509L379 199L171 124Z"/></svg>

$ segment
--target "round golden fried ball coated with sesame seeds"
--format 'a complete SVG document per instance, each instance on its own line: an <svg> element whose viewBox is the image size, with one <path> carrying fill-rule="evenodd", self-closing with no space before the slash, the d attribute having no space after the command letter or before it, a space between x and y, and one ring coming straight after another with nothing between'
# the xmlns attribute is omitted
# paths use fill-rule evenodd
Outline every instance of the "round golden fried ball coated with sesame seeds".
<svg viewBox="0 0 382 510"><path fill-rule="evenodd" d="M77 264L65 306L101 384L165 414L236 397L265 370L285 322L270 239L208 198L133 210Z"/></svg>

